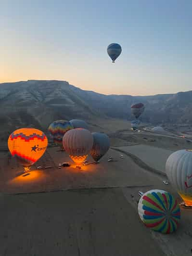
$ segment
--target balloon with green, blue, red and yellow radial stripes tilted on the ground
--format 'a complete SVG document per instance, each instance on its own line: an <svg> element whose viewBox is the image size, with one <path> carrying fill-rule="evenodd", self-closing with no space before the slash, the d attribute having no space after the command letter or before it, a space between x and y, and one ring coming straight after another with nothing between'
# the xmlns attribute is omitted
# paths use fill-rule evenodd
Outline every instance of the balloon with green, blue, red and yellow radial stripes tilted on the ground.
<svg viewBox="0 0 192 256"><path fill-rule="evenodd" d="M169 234L177 230L180 208L177 200L163 190L144 193L138 203L138 212L147 228Z"/></svg>

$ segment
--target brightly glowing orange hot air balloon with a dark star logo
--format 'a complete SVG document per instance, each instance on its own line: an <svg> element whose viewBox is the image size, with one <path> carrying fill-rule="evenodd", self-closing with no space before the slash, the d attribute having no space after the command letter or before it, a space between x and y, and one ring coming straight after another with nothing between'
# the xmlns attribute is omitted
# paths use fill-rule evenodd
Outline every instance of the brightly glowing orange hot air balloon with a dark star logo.
<svg viewBox="0 0 192 256"><path fill-rule="evenodd" d="M25 171L45 153L48 140L45 134L34 128L21 128L12 132L8 148L13 156L24 166Z"/></svg>

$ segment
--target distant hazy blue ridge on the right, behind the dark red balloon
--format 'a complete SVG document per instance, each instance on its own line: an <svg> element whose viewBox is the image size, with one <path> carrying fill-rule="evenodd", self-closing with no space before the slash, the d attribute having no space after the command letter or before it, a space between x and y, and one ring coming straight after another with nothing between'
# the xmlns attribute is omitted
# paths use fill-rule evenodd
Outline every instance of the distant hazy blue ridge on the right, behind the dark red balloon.
<svg viewBox="0 0 192 256"><path fill-rule="evenodd" d="M72 86L71 86L72 87ZM73 87L76 95L101 113L131 120L130 106L136 102L145 105L141 119L152 124L192 124L192 91L154 96L103 95Z"/></svg>

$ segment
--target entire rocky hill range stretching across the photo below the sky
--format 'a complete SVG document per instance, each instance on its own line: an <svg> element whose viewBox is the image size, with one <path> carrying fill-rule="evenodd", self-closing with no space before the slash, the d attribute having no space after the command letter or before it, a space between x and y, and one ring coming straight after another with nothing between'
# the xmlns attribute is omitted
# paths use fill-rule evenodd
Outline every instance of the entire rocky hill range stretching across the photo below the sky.
<svg viewBox="0 0 192 256"><path fill-rule="evenodd" d="M130 105L143 102L142 120L152 124L192 124L192 91L154 96L103 95L66 81L28 80L0 84L0 137L15 128L46 130L53 120L96 117L131 120Z"/></svg>

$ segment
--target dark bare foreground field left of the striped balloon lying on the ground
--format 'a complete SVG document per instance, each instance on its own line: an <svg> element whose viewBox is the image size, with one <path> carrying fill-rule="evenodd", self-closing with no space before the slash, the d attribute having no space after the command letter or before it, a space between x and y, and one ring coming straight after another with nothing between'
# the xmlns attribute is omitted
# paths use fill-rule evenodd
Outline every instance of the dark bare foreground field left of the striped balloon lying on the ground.
<svg viewBox="0 0 192 256"><path fill-rule="evenodd" d="M165 255L120 189L12 195L0 202L1 256Z"/></svg>

